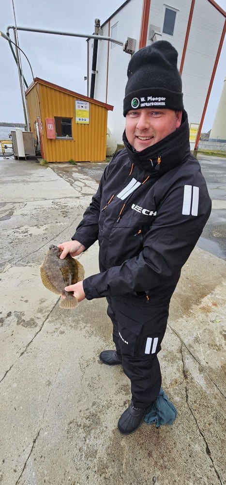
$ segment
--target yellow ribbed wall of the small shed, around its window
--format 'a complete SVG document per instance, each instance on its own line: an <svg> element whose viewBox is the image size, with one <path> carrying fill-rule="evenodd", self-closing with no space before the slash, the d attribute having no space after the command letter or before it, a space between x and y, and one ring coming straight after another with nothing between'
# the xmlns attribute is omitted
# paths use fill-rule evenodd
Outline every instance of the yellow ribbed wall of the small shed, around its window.
<svg viewBox="0 0 226 485"><path fill-rule="evenodd" d="M30 93L34 91L34 88ZM27 97L29 96L29 94ZM106 158L107 109L90 102L90 124L75 123L75 100L82 98L39 84L45 159L48 162L99 162ZM29 104L34 102L30 97ZM35 108L32 108L35 110ZM32 112L30 109L30 112ZM45 118L72 118L73 140L47 139Z"/></svg>

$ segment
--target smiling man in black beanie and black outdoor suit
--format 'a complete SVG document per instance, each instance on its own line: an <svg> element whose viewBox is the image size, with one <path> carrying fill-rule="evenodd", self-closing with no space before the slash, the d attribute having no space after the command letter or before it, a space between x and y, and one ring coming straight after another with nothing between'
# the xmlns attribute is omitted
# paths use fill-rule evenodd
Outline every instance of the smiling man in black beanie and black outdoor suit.
<svg viewBox="0 0 226 485"><path fill-rule="evenodd" d="M200 165L190 153L178 53L159 41L140 49L128 65L123 142L102 176L61 258L80 254L99 240L100 273L66 287L78 301L106 297L115 350L100 354L121 364L132 401L118 427L141 425L161 387L158 352L170 298L193 250L211 200Z"/></svg>

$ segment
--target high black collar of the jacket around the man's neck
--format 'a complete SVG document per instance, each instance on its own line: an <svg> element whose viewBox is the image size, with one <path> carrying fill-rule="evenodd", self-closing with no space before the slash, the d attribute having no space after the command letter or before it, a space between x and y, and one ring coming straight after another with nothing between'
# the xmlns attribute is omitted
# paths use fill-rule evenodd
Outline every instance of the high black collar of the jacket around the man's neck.
<svg viewBox="0 0 226 485"><path fill-rule="evenodd" d="M190 156L189 125L185 111L182 113L180 128L170 133L160 142L142 151L136 151L129 144L125 131L122 139L131 162L153 175L163 175L168 170L186 162ZM156 170L155 167L158 165L159 157L161 157L161 162L158 167L159 170Z"/></svg>

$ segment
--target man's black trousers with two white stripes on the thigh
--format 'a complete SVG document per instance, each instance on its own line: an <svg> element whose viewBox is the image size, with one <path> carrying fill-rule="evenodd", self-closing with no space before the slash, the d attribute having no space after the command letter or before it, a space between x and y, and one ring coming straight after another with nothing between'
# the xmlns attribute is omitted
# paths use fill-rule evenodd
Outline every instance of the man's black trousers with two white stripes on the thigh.
<svg viewBox="0 0 226 485"><path fill-rule="evenodd" d="M124 373L131 381L136 407L157 398L162 376L157 354L166 331L169 303L152 304L107 297L107 315L113 323L113 341L121 355Z"/></svg>

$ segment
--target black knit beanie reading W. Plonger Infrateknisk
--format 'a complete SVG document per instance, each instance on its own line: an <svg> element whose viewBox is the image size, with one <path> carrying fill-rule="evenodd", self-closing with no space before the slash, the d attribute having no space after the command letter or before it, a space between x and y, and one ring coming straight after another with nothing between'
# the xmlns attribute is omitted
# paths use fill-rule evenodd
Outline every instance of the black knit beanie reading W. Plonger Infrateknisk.
<svg viewBox="0 0 226 485"><path fill-rule="evenodd" d="M131 58L123 101L123 115L139 108L183 110L181 75L177 50L159 40L138 50Z"/></svg>

